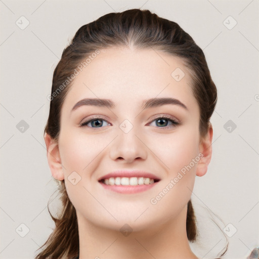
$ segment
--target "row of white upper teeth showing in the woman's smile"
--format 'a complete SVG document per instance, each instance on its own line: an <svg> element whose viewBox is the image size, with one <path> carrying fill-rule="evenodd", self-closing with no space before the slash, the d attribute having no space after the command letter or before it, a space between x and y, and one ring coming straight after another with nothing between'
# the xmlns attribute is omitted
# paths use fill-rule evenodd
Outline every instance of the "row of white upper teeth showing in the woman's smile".
<svg viewBox="0 0 259 259"><path fill-rule="evenodd" d="M148 185L153 184L154 179L145 178L145 177L111 177L109 179L105 179L104 183L106 185Z"/></svg>

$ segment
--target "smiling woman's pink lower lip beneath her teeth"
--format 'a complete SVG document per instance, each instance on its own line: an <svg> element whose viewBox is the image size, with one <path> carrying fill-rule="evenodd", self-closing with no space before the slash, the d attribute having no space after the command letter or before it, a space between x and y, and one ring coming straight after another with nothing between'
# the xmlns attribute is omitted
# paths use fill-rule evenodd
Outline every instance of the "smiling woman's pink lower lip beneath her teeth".
<svg viewBox="0 0 259 259"><path fill-rule="evenodd" d="M100 183L100 182L99 182ZM139 192L144 192L152 187L156 186L158 182L153 183L153 184L143 184L143 185L106 185L104 183L100 183L103 188L113 191L113 192L118 192L118 193L139 193Z"/></svg>

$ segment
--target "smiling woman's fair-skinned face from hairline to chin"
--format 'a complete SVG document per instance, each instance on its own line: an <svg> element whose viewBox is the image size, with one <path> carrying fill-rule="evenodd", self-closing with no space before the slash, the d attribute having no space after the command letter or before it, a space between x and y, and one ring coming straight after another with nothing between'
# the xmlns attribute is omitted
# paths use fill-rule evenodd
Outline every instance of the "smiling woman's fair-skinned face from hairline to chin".
<svg viewBox="0 0 259 259"><path fill-rule="evenodd" d="M65 180L77 216L136 231L183 217L203 155L199 107L182 60L158 50L117 47L102 50L78 73L61 110L63 168L53 174ZM153 100L160 98L167 102ZM83 99L98 103L76 105ZM138 192L140 186L99 181L117 170L144 171L160 181Z"/></svg>

